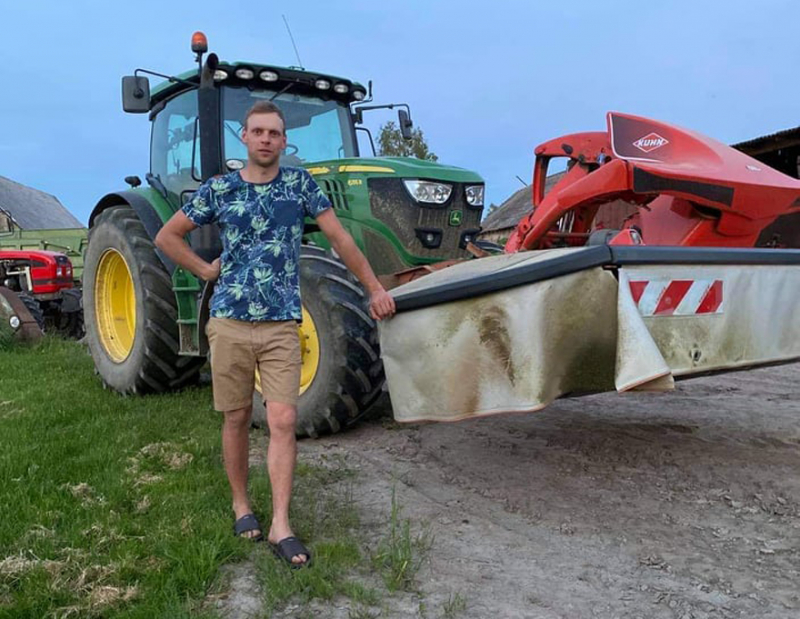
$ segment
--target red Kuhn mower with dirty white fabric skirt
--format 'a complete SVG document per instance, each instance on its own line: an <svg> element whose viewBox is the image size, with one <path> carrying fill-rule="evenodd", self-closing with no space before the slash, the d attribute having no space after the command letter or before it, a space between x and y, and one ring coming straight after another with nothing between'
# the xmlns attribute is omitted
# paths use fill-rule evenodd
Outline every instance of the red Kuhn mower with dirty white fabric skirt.
<svg viewBox="0 0 800 619"><path fill-rule="evenodd" d="M607 120L536 149L533 209L505 254L393 291L381 352L396 419L800 359L800 181L693 131ZM545 195L557 157L567 171ZM615 202L627 215L600 228Z"/></svg>

